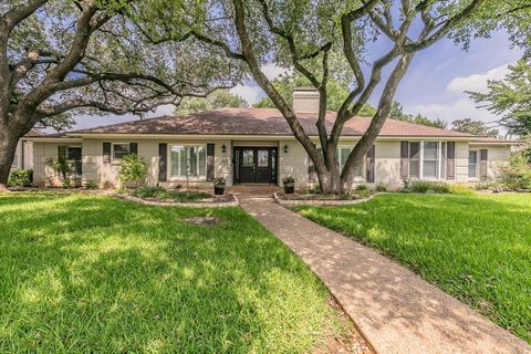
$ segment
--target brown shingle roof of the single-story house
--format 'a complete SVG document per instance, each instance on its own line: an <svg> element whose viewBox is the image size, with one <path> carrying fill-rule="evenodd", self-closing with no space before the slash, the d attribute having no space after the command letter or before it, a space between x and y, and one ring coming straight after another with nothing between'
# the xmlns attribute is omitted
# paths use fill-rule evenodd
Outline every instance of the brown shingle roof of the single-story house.
<svg viewBox="0 0 531 354"><path fill-rule="evenodd" d="M335 113L326 115L326 128L333 126ZM298 113L310 136L316 136L315 113ZM369 117L354 117L345 124L343 136L361 136L371 124ZM181 116L162 116L127 123L70 132L70 134L190 134L190 135L292 135L275 108L220 108ZM470 134L429 127L396 119L386 119L379 136L386 137L476 137Z"/></svg>

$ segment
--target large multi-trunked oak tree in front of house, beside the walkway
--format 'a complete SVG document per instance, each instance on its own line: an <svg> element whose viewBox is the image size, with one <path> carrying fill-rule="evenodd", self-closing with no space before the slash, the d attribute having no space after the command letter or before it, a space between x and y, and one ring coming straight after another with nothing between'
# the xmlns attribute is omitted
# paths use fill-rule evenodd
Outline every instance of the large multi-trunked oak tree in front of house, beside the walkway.
<svg viewBox="0 0 531 354"><path fill-rule="evenodd" d="M211 4L223 15L198 38L247 63L308 152L326 194L351 191L354 166L374 144L416 53L445 37L467 48L471 38L487 37L500 25L516 44L529 43L529 33L523 33L530 28L527 0L212 0ZM171 27L165 35L171 35ZM387 50L379 55L371 51L373 41ZM269 61L293 69L319 91L317 144L262 71ZM330 82L345 77L350 92L327 129ZM340 170L336 150L343 127L373 95L378 96L376 113Z"/></svg>

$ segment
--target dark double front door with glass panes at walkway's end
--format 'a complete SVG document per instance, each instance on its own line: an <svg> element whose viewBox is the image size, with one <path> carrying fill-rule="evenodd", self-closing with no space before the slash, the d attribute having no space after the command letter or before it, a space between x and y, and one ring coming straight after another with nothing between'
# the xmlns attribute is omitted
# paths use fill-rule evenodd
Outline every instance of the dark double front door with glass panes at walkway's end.
<svg viewBox="0 0 531 354"><path fill-rule="evenodd" d="M235 183L277 184L277 148L235 147Z"/></svg>

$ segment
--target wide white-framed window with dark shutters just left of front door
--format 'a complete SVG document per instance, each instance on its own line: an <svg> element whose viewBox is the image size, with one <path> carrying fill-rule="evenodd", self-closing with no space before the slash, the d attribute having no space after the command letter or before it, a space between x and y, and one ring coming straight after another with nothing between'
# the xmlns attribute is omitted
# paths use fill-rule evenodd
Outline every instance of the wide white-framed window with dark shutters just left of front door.
<svg viewBox="0 0 531 354"><path fill-rule="evenodd" d="M169 177L200 178L206 177L207 149L204 145L169 146Z"/></svg>

